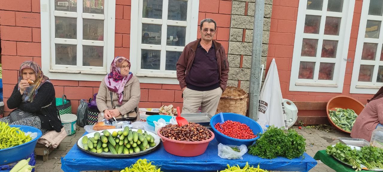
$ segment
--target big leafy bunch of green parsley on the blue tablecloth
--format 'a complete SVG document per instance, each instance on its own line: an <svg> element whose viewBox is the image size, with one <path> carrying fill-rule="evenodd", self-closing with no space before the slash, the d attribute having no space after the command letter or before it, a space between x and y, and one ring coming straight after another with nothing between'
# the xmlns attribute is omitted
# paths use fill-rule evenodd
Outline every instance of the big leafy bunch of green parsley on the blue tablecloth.
<svg viewBox="0 0 383 172"><path fill-rule="evenodd" d="M249 146L249 154L262 158L273 159L277 156L293 159L306 151L306 139L295 130L287 133L275 126L270 126L261 134L255 144Z"/></svg>

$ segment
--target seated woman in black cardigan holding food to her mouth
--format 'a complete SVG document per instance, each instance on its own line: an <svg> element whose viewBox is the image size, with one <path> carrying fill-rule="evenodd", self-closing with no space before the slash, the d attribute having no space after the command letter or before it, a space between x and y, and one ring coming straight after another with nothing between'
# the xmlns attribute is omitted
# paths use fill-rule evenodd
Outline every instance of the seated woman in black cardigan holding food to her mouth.
<svg viewBox="0 0 383 172"><path fill-rule="evenodd" d="M15 109L9 116L1 118L1 122L10 125L28 125L43 132L49 130L61 132L61 121L58 118L56 98L53 84L44 76L36 62L21 63L18 82L7 101L9 109ZM19 111L18 111L19 110ZM24 112L29 112L29 115ZM21 114L21 115L20 115Z"/></svg>

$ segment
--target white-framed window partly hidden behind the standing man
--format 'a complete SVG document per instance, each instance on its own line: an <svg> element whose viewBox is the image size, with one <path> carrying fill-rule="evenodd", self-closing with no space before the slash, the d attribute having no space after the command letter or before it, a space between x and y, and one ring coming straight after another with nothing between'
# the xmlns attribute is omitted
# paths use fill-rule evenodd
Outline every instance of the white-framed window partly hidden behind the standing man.
<svg viewBox="0 0 383 172"><path fill-rule="evenodd" d="M131 71L140 82L178 84L178 58L197 38L199 0L135 0L131 5L131 26L136 26L131 27Z"/></svg>

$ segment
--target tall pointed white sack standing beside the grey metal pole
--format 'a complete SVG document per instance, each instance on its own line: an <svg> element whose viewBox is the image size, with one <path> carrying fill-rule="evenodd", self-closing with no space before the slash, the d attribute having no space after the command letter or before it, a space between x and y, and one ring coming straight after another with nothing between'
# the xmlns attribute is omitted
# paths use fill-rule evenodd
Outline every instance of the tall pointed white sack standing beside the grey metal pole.
<svg viewBox="0 0 383 172"><path fill-rule="evenodd" d="M266 129L266 125L287 128L286 114L283 106L281 86L275 59L271 61L262 91L259 96L257 122Z"/></svg>

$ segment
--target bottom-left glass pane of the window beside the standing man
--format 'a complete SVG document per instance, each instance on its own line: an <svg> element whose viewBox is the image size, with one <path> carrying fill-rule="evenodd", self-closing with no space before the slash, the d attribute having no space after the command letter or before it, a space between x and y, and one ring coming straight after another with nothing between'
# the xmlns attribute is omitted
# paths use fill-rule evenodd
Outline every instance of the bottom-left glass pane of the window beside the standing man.
<svg viewBox="0 0 383 172"><path fill-rule="evenodd" d="M159 50L141 50L141 69L160 70Z"/></svg>

